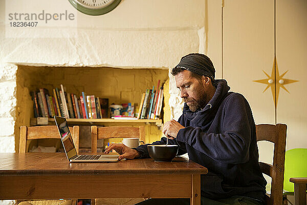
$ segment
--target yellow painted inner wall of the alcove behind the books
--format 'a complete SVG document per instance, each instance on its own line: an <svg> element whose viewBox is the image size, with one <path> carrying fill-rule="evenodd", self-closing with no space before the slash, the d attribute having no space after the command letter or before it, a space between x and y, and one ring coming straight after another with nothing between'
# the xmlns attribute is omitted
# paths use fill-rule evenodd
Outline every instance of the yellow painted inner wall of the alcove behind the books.
<svg viewBox="0 0 307 205"><path fill-rule="evenodd" d="M46 88L51 94L53 88L59 88L60 84L63 84L67 92L78 96L84 91L87 95L108 98L109 105L112 103L140 104L145 89L151 89L152 86L156 88L159 79L161 82L168 82L168 70L19 66L17 71L17 110L20 112L17 113L15 126L16 151L18 150L19 127L21 125L29 126L30 117L34 117L29 91ZM168 83L164 88L168 89ZM168 100L166 99L166 101ZM105 123L105 126L123 125L122 123ZM140 125L146 126L146 142L161 138L162 132L155 124L136 124L136 126ZM131 124L127 126L131 126ZM113 141L120 142L121 140L112 139ZM108 140L105 142L107 143Z"/></svg>

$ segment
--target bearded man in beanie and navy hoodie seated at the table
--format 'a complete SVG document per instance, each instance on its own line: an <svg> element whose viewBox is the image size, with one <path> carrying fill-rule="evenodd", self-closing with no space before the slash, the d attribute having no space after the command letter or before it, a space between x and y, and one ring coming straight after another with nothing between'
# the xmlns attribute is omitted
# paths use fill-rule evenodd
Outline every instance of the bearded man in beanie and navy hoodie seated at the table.
<svg viewBox="0 0 307 205"><path fill-rule="evenodd" d="M263 204L266 180L258 164L256 128L245 97L229 92L224 79L204 54L191 53L172 69L185 105L179 120L164 124L168 144L179 145L178 155L208 168L201 175L202 204ZM152 145L166 144L166 137ZM113 144L119 159L149 157L147 145L130 149ZM180 188L178 188L180 189ZM166 190L176 191L176 190ZM149 199L138 204L189 204L189 199Z"/></svg>

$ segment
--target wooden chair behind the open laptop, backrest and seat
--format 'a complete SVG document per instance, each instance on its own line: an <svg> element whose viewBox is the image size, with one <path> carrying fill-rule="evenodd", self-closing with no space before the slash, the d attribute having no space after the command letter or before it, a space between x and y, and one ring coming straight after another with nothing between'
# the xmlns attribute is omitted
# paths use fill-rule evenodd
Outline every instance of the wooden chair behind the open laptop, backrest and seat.
<svg viewBox="0 0 307 205"><path fill-rule="evenodd" d="M79 126L69 128L73 141L77 150L79 151ZM20 127L19 137L19 153L27 152L27 140L30 139L44 139L44 138L60 138L57 126L36 126L36 127ZM17 200L18 205L29 205L29 204L61 204L61 205L72 205L76 204L76 199L64 199L64 200L32 200L32 201L21 201Z"/></svg>

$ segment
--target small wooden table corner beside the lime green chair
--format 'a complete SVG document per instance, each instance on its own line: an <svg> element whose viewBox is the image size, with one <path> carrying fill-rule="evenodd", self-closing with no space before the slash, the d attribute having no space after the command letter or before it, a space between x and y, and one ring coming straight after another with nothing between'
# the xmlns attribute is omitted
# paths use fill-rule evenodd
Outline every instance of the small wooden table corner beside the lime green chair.
<svg viewBox="0 0 307 205"><path fill-rule="evenodd" d="M306 205L307 177L293 177L290 181L294 183L295 204Z"/></svg>

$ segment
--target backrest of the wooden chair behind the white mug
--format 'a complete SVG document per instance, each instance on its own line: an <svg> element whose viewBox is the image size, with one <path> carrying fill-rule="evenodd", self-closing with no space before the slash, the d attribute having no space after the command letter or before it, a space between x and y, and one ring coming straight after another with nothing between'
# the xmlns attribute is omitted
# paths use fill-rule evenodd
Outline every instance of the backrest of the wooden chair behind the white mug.
<svg viewBox="0 0 307 205"><path fill-rule="evenodd" d="M138 137L145 144L145 126L140 127L91 127L92 153L97 153L97 139Z"/></svg>

